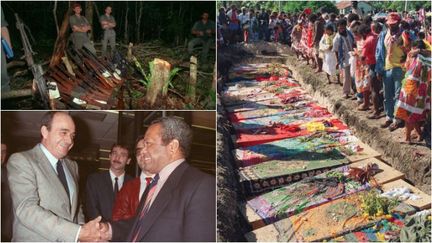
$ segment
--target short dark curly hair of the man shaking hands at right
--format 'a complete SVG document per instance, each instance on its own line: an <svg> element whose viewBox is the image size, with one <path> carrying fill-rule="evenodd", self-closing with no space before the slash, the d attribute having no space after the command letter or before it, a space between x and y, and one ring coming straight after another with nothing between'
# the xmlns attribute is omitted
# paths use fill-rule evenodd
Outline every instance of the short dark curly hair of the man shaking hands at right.
<svg viewBox="0 0 432 243"><path fill-rule="evenodd" d="M180 149L185 157L189 155L192 144L192 129L181 118L166 116L152 121L151 125L159 124L162 126L162 143L167 145L172 140L179 141Z"/></svg>

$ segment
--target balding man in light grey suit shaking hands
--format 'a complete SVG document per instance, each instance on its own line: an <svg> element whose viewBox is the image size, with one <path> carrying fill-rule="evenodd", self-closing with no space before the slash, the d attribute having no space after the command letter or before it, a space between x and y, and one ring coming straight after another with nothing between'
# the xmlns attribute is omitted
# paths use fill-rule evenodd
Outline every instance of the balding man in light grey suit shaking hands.
<svg viewBox="0 0 432 243"><path fill-rule="evenodd" d="M42 141L12 154L8 179L14 209L13 241L98 241L101 217L84 223L78 203L78 165L66 158L75 124L65 112L42 118Z"/></svg>

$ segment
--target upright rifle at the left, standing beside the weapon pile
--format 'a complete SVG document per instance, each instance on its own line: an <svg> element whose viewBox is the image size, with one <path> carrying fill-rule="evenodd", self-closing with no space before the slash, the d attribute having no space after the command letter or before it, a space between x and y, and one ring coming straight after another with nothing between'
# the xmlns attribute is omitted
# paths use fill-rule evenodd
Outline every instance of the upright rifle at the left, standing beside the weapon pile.
<svg viewBox="0 0 432 243"><path fill-rule="evenodd" d="M20 32L22 45L24 49L24 56L21 59L25 59L27 62L28 67L30 68L31 72L33 73L33 84L36 83L36 86L39 90L40 96L42 98L43 105L46 109L54 108L50 107L50 98L48 94L48 89L52 87L48 87L47 81L45 80L43 76L43 70L42 66L40 64L34 63L33 55L36 54L31 45L30 41L27 37L27 33L24 29L24 23L19 18L18 14L15 13L16 18L16 27ZM54 103L52 103L54 106Z"/></svg>

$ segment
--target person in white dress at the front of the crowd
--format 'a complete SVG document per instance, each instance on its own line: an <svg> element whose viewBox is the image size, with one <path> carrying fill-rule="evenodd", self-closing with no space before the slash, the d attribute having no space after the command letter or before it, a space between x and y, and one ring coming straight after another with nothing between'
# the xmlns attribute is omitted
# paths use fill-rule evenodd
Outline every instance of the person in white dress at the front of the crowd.
<svg viewBox="0 0 432 243"><path fill-rule="evenodd" d="M332 50L334 37L335 33L333 31L333 26L331 24L327 24L324 28L324 35L319 43L319 50L320 57L323 59L322 68L327 75L329 84L331 84L331 77L336 75L337 59L335 53ZM337 82L341 84L339 76Z"/></svg>

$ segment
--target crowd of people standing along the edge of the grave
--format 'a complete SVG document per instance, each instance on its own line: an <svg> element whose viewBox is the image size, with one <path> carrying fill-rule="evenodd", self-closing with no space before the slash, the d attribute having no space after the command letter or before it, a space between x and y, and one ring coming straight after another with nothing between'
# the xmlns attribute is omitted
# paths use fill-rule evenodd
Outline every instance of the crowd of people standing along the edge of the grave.
<svg viewBox="0 0 432 243"><path fill-rule="evenodd" d="M431 27L424 9L350 13L324 8L301 13L219 9L218 44L273 41L289 45L328 83L343 86L343 98L358 101L368 119L386 117L381 128L405 127L405 139L430 147ZM430 15L429 15L430 16ZM415 130L417 135L412 135Z"/></svg>

